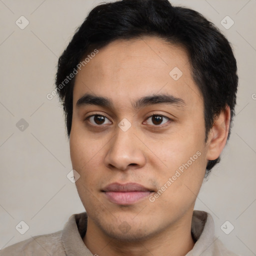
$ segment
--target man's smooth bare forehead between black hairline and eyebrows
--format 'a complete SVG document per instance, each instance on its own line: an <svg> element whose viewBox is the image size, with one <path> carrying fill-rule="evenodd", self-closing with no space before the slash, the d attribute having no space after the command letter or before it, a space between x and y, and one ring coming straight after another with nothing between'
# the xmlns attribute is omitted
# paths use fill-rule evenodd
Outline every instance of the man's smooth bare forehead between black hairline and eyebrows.
<svg viewBox="0 0 256 256"><path fill-rule="evenodd" d="M156 92L184 101L201 98L186 50L158 37L115 40L98 49L76 75L74 101L86 92L114 98L122 105L126 99Z"/></svg>

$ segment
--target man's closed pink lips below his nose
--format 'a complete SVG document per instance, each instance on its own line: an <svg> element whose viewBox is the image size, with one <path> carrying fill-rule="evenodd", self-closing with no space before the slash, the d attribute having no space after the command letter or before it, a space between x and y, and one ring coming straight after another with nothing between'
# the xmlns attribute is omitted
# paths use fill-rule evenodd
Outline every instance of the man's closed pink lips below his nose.
<svg viewBox="0 0 256 256"><path fill-rule="evenodd" d="M129 205L145 199L154 191L138 183L111 183L101 190L115 204Z"/></svg>

